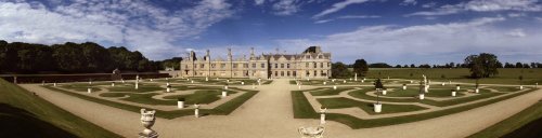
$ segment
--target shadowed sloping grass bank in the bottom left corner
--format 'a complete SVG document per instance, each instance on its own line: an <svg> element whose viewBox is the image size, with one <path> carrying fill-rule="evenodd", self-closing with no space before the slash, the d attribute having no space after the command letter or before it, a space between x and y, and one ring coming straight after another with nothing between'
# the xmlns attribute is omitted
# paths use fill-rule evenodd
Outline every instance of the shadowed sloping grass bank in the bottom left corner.
<svg viewBox="0 0 542 138"><path fill-rule="evenodd" d="M120 137L0 79L0 137Z"/></svg>

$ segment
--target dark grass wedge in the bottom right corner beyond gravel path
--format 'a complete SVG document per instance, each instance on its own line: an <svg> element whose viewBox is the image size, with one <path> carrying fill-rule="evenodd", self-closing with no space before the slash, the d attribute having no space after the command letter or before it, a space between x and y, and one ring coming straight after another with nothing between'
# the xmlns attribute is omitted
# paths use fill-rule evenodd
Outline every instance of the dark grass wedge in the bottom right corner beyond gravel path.
<svg viewBox="0 0 542 138"><path fill-rule="evenodd" d="M539 127L533 127L538 121L542 119L542 101L539 101L531 107L518 112L511 118L503 120L483 130L480 130L468 138L534 138L541 136L542 132ZM533 126L530 126L533 125Z"/></svg>

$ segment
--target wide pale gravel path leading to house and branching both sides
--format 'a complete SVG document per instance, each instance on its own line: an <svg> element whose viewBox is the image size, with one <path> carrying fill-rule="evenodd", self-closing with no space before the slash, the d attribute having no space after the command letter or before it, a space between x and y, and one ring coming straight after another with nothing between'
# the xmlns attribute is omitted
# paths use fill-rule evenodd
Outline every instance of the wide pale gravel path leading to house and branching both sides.
<svg viewBox="0 0 542 138"><path fill-rule="evenodd" d="M94 104L57 92L51 92L38 84L21 84L24 88L36 92L40 97L54 105L93 122L106 129L125 137L137 137L143 127L140 114L100 104ZM315 86L302 86L302 89ZM251 86L241 86L250 89ZM293 118L291 91L298 89L288 80L274 80L269 85L261 85L260 91L230 115L210 115L199 119L193 116L173 120L157 119L153 127L162 138L295 138L299 137L299 126L315 126L318 120ZM417 138L455 138L466 137L514 113L533 105L542 97L542 91L532 92L504 101L476 108L441 118L364 129L351 129L348 126L328 121L326 137L417 137Z"/></svg>

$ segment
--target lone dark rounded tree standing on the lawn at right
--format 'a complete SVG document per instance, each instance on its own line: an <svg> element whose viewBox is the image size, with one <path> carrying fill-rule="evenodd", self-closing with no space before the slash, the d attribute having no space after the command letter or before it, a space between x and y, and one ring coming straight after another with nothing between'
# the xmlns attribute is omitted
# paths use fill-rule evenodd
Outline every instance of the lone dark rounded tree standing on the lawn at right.
<svg viewBox="0 0 542 138"><path fill-rule="evenodd" d="M465 65L469 68L472 78L489 78L499 74L498 63L496 56L489 53L470 55L465 58Z"/></svg>

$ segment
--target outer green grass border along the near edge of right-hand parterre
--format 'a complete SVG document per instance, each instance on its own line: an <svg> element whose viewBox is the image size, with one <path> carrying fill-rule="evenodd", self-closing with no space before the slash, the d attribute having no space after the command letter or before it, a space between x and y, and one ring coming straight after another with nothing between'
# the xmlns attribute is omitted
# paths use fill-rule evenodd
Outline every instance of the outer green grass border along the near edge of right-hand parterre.
<svg viewBox="0 0 542 138"><path fill-rule="evenodd" d="M512 97L516 97L535 89L529 89L526 92L514 93L512 95L507 95L504 97L477 102L473 105L428 112L428 113L420 113L413 115L404 115L404 116L395 116L395 118L383 118L383 119L373 119L373 120L361 120L348 114L338 114L338 113L328 113L326 118L331 121L336 121L343 123L345 125L350 126L351 128L369 128L369 127L378 127L378 126L387 126L402 123L416 122L422 120L434 119L442 115L448 115L452 113L457 113L466 110L470 110L474 108L482 107L486 105L490 105L493 102L498 102L504 99L508 99ZM301 91L293 91L292 92L293 106L294 106L294 118L296 119L318 119L319 114L312 109L307 98L302 95ZM383 106L384 108L384 106Z"/></svg>

